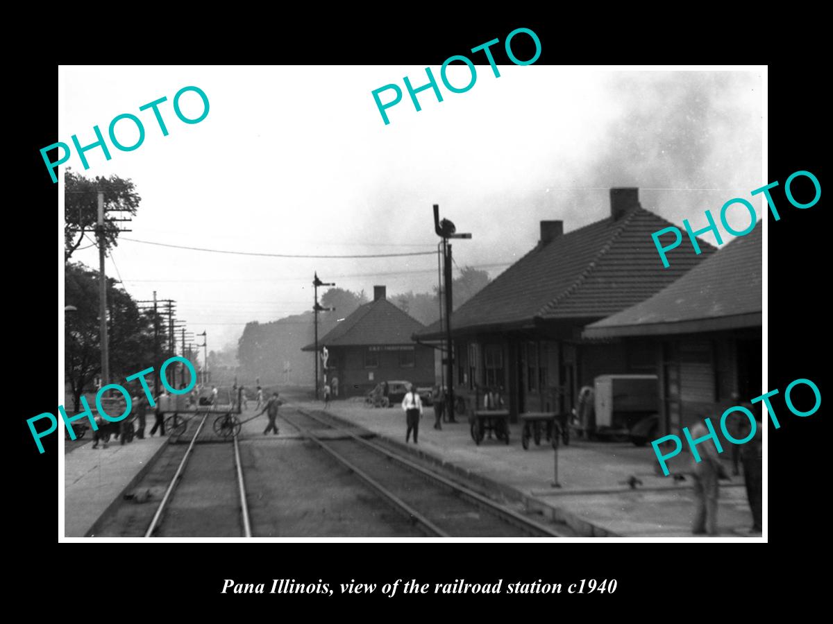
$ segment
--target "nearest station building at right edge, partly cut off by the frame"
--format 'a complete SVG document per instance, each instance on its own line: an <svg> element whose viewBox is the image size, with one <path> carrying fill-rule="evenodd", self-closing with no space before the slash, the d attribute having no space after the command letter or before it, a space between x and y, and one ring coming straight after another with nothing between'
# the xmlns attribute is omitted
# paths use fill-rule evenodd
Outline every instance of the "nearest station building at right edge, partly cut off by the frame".
<svg viewBox="0 0 833 624"><path fill-rule="evenodd" d="M656 295L585 329L589 339L650 346L661 433L714 421L763 392L762 230L758 221Z"/></svg>

